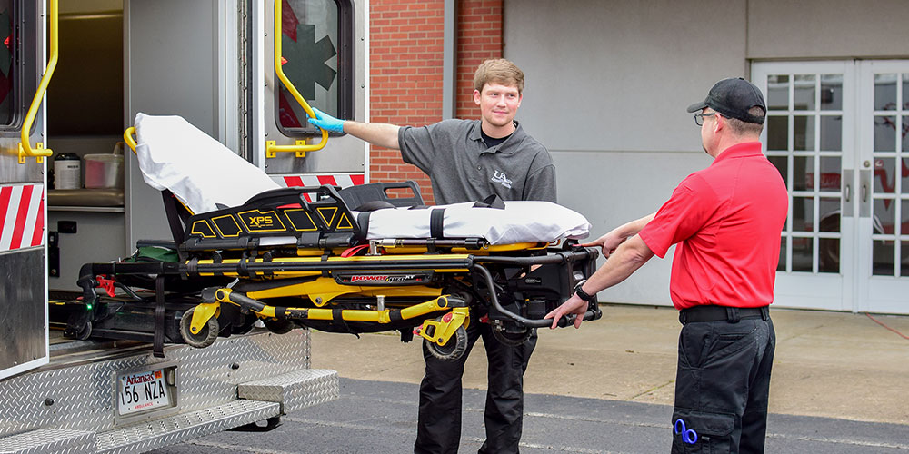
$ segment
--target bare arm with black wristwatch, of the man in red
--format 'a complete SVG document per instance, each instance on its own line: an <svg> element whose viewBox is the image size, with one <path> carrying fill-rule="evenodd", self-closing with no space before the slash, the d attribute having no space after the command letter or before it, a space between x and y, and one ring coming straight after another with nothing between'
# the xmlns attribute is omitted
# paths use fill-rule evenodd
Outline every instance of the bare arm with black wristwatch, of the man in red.
<svg viewBox="0 0 909 454"><path fill-rule="evenodd" d="M653 218L651 217L651 219ZM644 225L646 225L646 222L644 222ZM613 256L607 260L599 270L594 272L594 275L584 282L584 286L581 288L587 294L595 295L598 291L602 291L624 281L653 256L654 252L650 250L647 243L645 243L640 236L635 234L633 237L629 238L627 242L623 242L618 246L615 249ZM587 301L582 300L575 293L568 301L562 303L562 305L555 308L554 311L547 313L544 318L553 319L553 326L551 328L555 329L555 327L558 326L559 319L561 319L563 315L574 313L577 315L574 319L574 328L580 328L581 322L584 321L585 311L587 311Z"/></svg>

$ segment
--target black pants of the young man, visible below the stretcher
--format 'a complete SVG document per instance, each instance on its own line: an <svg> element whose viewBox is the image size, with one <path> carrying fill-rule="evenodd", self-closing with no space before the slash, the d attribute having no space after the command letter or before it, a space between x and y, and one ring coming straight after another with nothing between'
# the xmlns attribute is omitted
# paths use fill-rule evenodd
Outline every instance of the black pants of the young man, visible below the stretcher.
<svg viewBox="0 0 909 454"><path fill-rule="evenodd" d="M460 360L435 358L424 344L426 375L420 384L420 416L416 454L456 454L461 440L461 378L464 361L483 337L489 362L484 425L486 440L480 453L517 453L524 418L524 371L536 346L536 332L523 345L511 347L496 341L487 323L471 320L467 350Z"/></svg>

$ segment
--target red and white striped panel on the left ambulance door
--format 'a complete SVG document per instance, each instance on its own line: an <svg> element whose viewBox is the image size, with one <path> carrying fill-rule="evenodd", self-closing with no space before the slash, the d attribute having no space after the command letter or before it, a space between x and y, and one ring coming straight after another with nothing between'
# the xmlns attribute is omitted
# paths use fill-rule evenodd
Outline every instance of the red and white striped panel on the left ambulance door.
<svg viewBox="0 0 909 454"><path fill-rule="evenodd" d="M44 184L0 186L0 251L44 243Z"/></svg>

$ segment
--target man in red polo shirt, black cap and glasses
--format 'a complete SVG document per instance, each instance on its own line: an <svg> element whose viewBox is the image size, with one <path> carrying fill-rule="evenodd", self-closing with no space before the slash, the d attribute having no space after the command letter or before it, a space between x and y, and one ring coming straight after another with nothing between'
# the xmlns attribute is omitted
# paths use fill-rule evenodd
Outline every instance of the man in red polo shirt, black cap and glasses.
<svg viewBox="0 0 909 454"><path fill-rule="evenodd" d="M788 196L761 153L767 108L744 79L714 84L688 112L714 157L675 188L658 212L590 245L609 260L546 317L583 314L597 291L630 276L654 254L675 250L669 291L679 336L672 452L764 452L776 336L768 306ZM575 319L580 327L583 317Z"/></svg>

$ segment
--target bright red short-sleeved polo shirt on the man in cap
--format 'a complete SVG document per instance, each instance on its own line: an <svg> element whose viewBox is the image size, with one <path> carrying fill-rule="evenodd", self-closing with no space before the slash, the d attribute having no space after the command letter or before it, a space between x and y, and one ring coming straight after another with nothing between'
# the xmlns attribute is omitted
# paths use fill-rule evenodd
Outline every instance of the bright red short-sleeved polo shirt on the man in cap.
<svg viewBox="0 0 909 454"><path fill-rule="evenodd" d="M773 302L788 202L783 178L760 142L733 145L688 175L640 232L661 258L681 242L669 281L675 307Z"/></svg>

